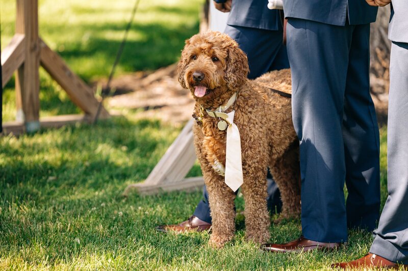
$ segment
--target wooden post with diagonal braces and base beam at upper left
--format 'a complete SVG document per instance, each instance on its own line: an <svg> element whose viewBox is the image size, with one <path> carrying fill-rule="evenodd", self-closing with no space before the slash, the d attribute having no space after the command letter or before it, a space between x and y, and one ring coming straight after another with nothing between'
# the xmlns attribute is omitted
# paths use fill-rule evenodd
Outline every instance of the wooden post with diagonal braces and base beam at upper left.
<svg viewBox="0 0 408 271"><path fill-rule="evenodd" d="M91 121L99 105L92 89L51 50L38 34L38 0L16 0L16 33L2 51L3 81L5 86L16 72L16 121L3 124L4 133L35 132L40 126L59 127L66 123ZM40 65L66 91L84 115L63 115L39 118ZM100 118L109 117L101 108Z"/></svg>

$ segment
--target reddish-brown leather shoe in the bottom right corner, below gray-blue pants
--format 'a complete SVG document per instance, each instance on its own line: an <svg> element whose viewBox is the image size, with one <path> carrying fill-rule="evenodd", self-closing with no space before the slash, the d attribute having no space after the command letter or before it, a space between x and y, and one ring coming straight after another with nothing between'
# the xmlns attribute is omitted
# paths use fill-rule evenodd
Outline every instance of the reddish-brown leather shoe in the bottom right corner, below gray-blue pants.
<svg viewBox="0 0 408 271"><path fill-rule="evenodd" d="M408 268L408 264L398 264L372 253L368 253L363 258L354 261L338 262L331 265L331 268L342 269L364 269L364 268L399 269L399 267Z"/></svg>

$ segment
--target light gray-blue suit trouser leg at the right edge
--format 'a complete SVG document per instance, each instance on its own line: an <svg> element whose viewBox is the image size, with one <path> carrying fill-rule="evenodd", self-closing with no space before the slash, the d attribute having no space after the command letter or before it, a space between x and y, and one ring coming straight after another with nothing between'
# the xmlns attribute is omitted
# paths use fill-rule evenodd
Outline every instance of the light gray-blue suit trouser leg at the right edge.
<svg viewBox="0 0 408 271"><path fill-rule="evenodd" d="M370 252L408 264L408 43L392 44L387 144L389 196Z"/></svg>

